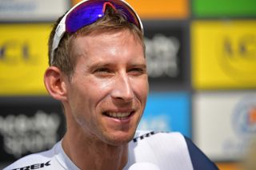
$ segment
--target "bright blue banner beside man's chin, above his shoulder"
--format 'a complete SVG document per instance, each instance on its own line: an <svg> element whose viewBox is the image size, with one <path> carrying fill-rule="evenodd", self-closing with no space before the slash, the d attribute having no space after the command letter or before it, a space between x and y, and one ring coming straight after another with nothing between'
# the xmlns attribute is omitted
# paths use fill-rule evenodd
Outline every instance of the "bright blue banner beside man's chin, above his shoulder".
<svg viewBox="0 0 256 170"><path fill-rule="evenodd" d="M138 129L190 134L190 95L188 93L150 93Z"/></svg>

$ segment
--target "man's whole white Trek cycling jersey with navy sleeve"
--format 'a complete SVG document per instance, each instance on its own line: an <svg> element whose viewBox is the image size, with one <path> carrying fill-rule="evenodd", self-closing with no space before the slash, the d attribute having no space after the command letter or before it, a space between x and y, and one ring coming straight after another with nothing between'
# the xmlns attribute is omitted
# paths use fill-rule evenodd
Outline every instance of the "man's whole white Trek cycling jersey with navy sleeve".
<svg viewBox="0 0 256 170"><path fill-rule="evenodd" d="M190 169L218 169L202 152L195 148L194 156L191 158L191 150L186 137L178 132L145 132L137 131L134 140L129 143L129 156L125 170L136 163L154 164L161 170L190 170ZM193 162L195 161L195 162ZM199 162L197 162L199 161ZM202 162L204 161L204 162ZM199 164L198 164L199 163ZM200 165L206 164L206 165ZM4 170L62 170L79 169L66 155L61 141L46 152L34 153L25 156L10 164ZM134 168L133 168L134 169Z"/></svg>

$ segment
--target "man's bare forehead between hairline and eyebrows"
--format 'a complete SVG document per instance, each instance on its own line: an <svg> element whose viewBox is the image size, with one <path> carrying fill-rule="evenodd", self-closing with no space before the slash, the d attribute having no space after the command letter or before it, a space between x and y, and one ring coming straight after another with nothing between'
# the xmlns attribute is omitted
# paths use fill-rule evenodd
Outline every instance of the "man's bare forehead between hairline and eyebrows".
<svg viewBox="0 0 256 170"><path fill-rule="evenodd" d="M118 32L89 34L74 39L71 48L72 57L86 57L86 61L95 60L138 60L145 59L143 42L129 30Z"/></svg>

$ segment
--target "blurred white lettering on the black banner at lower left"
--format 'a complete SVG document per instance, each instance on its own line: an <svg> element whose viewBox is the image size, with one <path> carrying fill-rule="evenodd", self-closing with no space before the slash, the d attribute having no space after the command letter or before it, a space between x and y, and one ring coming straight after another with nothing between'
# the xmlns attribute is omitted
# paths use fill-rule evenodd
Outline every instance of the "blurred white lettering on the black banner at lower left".
<svg viewBox="0 0 256 170"><path fill-rule="evenodd" d="M58 140L61 117L57 113L38 110L33 117L25 114L0 116L2 147L16 158L27 152L38 152L52 147Z"/></svg>

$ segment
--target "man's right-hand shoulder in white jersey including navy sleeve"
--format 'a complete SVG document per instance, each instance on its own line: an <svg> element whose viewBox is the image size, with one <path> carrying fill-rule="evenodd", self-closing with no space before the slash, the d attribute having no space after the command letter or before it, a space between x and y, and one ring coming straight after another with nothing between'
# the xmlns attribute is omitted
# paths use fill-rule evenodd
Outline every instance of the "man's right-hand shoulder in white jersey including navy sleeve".
<svg viewBox="0 0 256 170"><path fill-rule="evenodd" d="M132 163L155 162L160 169L218 169L180 132L138 131L129 147Z"/></svg>

